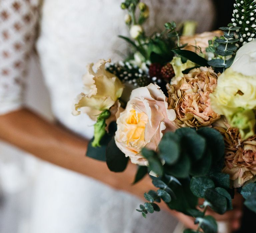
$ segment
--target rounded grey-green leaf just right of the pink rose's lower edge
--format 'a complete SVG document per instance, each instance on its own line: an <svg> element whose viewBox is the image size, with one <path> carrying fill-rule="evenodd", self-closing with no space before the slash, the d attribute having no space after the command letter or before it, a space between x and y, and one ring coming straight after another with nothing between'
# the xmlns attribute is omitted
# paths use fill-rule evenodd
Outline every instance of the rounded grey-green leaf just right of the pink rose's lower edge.
<svg viewBox="0 0 256 233"><path fill-rule="evenodd" d="M159 143L159 156L164 159L167 164L174 164L180 155L179 137L173 132L167 132Z"/></svg>

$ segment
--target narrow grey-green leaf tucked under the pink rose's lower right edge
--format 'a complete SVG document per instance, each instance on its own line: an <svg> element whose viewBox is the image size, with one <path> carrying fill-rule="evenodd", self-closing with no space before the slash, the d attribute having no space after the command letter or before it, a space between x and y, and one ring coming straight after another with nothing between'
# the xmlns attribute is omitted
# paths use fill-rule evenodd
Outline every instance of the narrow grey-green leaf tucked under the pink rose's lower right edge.
<svg viewBox="0 0 256 233"><path fill-rule="evenodd" d="M157 157L156 152L147 148L143 148L141 153L145 158L148 159L148 166L150 170L161 176L163 174L163 165L160 159Z"/></svg>

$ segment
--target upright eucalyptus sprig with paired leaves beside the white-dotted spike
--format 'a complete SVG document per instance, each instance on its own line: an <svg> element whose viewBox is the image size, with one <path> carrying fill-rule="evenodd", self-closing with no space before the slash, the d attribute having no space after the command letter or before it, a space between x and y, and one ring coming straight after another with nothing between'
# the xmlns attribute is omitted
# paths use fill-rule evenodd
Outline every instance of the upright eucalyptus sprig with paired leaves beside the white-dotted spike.
<svg viewBox="0 0 256 233"><path fill-rule="evenodd" d="M239 30L240 27L234 27L233 24L229 24L228 27L220 27L220 30L224 31L222 38L216 39L215 43L218 43L215 50L215 54L219 57L217 59L212 59L208 62L208 64L212 67L226 68L232 65L234 60L234 52L238 49L235 45L239 39L235 39L234 35L236 30ZM232 56L232 57L230 57Z"/></svg>

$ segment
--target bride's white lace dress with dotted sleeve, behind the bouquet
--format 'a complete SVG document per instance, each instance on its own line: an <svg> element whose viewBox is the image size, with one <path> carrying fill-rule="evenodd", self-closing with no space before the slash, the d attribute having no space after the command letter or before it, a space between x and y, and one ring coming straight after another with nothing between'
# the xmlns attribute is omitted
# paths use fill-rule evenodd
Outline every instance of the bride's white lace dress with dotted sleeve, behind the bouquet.
<svg viewBox="0 0 256 233"><path fill-rule="evenodd" d="M199 31L211 28L214 7L210 0L145 2L150 7L148 33L163 28L171 20L177 23L196 20ZM119 0L44 0L41 5L36 48L52 111L63 125L85 138L92 137L93 122L85 115L72 116L71 106L81 92L81 76L87 63L99 58L116 61L126 53L126 44L117 38L119 34L127 34L120 3ZM0 1L1 114L23 105L25 58L33 47L38 5L38 0ZM42 165L34 177L31 233L173 232L177 224L164 211L148 215L145 220L135 210L141 200L54 165Z"/></svg>

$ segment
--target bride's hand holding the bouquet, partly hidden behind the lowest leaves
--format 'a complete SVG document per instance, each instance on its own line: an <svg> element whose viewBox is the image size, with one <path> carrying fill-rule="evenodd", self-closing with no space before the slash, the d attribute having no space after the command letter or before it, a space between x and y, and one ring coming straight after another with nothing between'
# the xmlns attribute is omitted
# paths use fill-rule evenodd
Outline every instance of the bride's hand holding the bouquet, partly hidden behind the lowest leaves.
<svg viewBox="0 0 256 233"><path fill-rule="evenodd" d="M200 199L200 204L203 200ZM213 216L217 221L227 222L231 232L236 231L240 228L241 217L242 217L242 205L243 198L239 193L235 194L235 198L232 200L233 210L227 211L225 214L217 214L211 208L208 208L206 215ZM182 222L187 228L197 229L197 225L194 224L194 218L189 217L183 213L174 212L174 215Z"/></svg>

